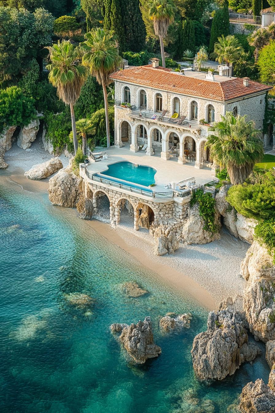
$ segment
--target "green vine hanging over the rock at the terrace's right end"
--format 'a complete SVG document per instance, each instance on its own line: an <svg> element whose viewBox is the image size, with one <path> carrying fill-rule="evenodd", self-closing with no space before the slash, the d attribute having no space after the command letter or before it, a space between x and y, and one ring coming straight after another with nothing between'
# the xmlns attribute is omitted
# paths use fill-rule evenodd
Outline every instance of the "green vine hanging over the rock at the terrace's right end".
<svg viewBox="0 0 275 413"><path fill-rule="evenodd" d="M212 234L216 233L218 228L215 224L215 199L209 192L204 194L202 189L198 189L192 192L190 207L196 203L199 205L200 216L204 220L203 229Z"/></svg>

